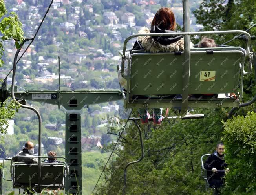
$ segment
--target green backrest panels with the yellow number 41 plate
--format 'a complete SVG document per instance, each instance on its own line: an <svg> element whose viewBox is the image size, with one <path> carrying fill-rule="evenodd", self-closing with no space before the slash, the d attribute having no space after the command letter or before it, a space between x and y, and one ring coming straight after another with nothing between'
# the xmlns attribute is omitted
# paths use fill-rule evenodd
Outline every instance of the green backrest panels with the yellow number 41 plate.
<svg viewBox="0 0 256 195"><path fill-rule="evenodd" d="M240 47L193 49L190 60L190 94L230 93L239 87L239 63L244 51ZM225 50L225 51L224 51ZM132 52L130 93L132 95L168 95L183 93L184 53ZM186 73L188 74L188 73Z"/></svg>

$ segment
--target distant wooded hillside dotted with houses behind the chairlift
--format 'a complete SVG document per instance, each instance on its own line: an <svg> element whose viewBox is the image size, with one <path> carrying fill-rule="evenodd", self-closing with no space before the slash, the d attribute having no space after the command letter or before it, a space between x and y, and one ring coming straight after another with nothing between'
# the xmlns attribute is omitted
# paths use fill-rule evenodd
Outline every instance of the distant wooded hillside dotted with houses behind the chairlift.
<svg viewBox="0 0 256 195"><path fill-rule="evenodd" d="M26 37L33 37L51 0L5 0L8 12L20 18ZM190 0L191 11L202 0ZM160 7L170 7L177 24L182 25L181 0L54 0L51 9L32 45L19 61L15 85L18 90L57 90L58 56L60 56L61 90L119 89L117 65L121 63L118 51L124 40L141 27L150 27ZM203 26L196 24L190 14L191 31ZM135 39L129 44L132 47ZM0 68L3 79L13 66L16 52L14 42L2 42L5 65ZM26 45L25 45L26 46ZM24 47L26 48L26 47ZM24 52L24 49L20 53ZM7 78L8 88L11 76ZM42 115L42 150L53 150L64 156L65 110L57 106L28 101ZM123 101L85 107L81 111L83 168L90 172L84 180L95 181L99 174L100 157L106 157L109 146L116 136L108 133L110 128L120 128L127 117ZM115 122L116 126L110 126ZM5 144L0 146L1 157L18 153L24 142L31 140L38 148L38 120L27 110L19 110L5 135ZM12 143L12 144L8 144ZM101 155L102 154L102 155ZM95 155L95 156L94 156ZM97 161L97 165L96 164ZM95 163L95 164L93 164ZM6 185L7 186L7 185ZM84 186L85 188L85 186ZM86 186L84 192L93 186Z"/></svg>

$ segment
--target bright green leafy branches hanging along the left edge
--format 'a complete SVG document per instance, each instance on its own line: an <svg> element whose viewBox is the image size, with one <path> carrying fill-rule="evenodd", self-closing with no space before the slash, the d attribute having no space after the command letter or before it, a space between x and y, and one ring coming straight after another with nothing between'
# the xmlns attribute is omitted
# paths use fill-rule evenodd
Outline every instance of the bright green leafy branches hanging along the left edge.
<svg viewBox="0 0 256 195"><path fill-rule="evenodd" d="M0 38L0 67L4 65L2 56L4 53L4 46L2 41L15 40L16 49L20 48L20 44L24 40L24 33L22 31L22 23L18 20L18 16L11 12L9 16L4 17L7 14L4 0L0 0L0 32L2 37ZM1 80L0 80L1 81ZM8 128L8 119L14 117L18 107L13 101L5 101L0 103L0 132L6 133Z"/></svg>

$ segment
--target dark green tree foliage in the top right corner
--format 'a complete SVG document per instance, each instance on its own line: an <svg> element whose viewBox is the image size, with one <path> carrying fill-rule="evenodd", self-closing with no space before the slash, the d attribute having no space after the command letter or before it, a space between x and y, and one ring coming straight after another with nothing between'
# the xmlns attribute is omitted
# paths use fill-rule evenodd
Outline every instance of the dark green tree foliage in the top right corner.
<svg viewBox="0 0 256 195"><path fill-rule="evenodd" d="M196 16L197 23L204 26L202 31L212 30L246 30L256 20L254 11L256 2L254 0L204 0L199 9L193 13ZM250 6L248 6L250 5ZM256 29L252 29L251 33ZM225 36L212 36L214 39L225 42L234 37L234 34ZM240 41L242 42L242 41ZM236 42L232 42L234 44Z"/></svg>

